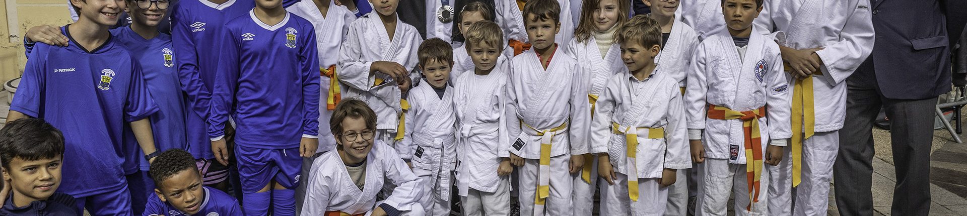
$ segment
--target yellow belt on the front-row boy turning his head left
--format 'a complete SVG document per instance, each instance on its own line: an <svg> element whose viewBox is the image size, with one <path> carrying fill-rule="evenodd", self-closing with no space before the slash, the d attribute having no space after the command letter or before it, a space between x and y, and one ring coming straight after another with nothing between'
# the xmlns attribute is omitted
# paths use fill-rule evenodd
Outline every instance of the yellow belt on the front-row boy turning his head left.
<svg viewBox="0 0 967 216"><path fill-rule="evenodd" d="M618 122L611 122L611 132L625 135L625 152L628 154L628 160L626 161L626 168L628 170L628 197L631 201L638 202L638 164L636 160L638 137L647 139L664 138L664 128L630 127L622 126Z"/></svg>

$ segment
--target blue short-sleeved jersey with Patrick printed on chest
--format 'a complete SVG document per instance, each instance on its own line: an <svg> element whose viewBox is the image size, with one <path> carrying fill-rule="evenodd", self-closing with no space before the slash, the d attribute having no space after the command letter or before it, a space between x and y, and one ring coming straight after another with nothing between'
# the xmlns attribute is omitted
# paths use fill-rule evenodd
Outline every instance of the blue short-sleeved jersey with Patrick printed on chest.
<svg viewBox="0 0 967 216"><path fill-rule="evenodd" d="M66 180L59 191L87 197L124 186L122 147L129 134L123 131L159 108L123 45L111 37L87 50L67 29L61 31L68 46L35 45L10 109L64 133Z"/></svg>

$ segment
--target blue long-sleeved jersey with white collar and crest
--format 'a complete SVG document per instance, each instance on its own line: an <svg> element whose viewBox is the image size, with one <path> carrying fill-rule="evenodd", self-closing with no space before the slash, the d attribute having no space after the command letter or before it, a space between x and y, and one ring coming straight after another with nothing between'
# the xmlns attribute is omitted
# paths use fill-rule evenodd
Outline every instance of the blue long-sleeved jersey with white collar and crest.
<svg viewBox="0 0 967 216"><path fill-rule="evenodd" d="M319 60L308 20L286 13L276 25L249 15L225 24L212 125L234 117L235 143L298 148L319 133Z"/></svg>

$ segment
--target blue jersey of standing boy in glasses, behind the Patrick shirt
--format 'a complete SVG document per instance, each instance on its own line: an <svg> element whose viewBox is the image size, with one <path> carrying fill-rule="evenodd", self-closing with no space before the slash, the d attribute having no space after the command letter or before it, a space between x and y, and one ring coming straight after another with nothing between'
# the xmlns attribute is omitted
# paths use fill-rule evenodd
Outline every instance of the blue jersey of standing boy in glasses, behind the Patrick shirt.
<svg viewBox="0 0 967 216"><path fill-rule="evenodd" d="M158 113L150 117L156 148L164 151L172 148L189 150L189 147L210 146L204 121L197 118L198 121L192 121L192 124L186 125L186 109L190 107L186 106L181 84L178 81L178 68L175 67L171 36L160 33L151 40L145 40L131 27L112 29L111 36L125 45L137 60L144 74L148 92L160 108ZM193 113L191 115L197 116ZM200 140L188 142L189 136ZM129 142L132 145L127 145L130 149L125 151L127 155L125 160L134 161L140 164L141 171L147 171L150 164L144 160L142 156L144 152L136 145L137 141L133 140L133 137Z"/></svg>

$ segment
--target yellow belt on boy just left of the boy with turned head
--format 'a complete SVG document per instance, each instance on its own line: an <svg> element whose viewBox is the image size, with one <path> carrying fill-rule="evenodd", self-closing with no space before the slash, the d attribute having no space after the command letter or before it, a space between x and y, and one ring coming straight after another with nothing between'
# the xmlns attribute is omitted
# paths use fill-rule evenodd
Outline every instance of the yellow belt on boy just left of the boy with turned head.
<svg viewBox="0 0 967 216"><path fill-rule="evenodd" d="M537 132L534 135L541 136L541 162L540 166L538 167L538 190L536 196L534 196L534 215L542 215L544 200L550 196L551 142L554 139L554 135L557 135L557 132L568 129L568 122L561 123L560 126L546 130L536 129L531 125L527 125L527 123L524 123L524 121L520 121L520 124Z"/></svg>

